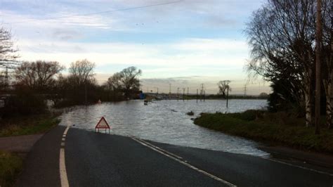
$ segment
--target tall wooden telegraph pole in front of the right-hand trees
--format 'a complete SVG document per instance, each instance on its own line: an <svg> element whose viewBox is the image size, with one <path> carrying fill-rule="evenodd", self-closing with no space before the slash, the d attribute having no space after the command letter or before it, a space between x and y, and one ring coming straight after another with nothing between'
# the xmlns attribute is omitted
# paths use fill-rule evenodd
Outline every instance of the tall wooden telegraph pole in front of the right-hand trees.
<svg viewBox="0 0 333 187"><path fill-rule="evenodd" d="M322 1L317 0L317 19L315 30L315 134L320 134L320 53L322 41Z"/></svg>

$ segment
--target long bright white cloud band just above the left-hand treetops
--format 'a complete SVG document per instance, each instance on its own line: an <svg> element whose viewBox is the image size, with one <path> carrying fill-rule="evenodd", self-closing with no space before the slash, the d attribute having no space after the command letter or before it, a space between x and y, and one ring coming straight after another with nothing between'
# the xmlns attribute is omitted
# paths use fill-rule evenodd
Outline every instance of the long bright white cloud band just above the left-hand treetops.
<svg viewBox="0 0 333 187"><path fill-rule="evenodd" d="M184 39L165 44L20 40L18 47L22 60L58 60L63 64L88 58L97 65L155 65L178 69L216 65L242 68L247 58L237 51L247 53L244 42L228 39Z"/></svg>

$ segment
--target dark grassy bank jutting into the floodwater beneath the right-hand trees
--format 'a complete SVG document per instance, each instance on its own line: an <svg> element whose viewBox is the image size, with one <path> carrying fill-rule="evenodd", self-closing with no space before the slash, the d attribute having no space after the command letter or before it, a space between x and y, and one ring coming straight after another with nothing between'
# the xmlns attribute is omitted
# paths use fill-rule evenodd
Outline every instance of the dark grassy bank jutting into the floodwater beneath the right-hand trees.
<svg viewBox="0 0 333 187"><path fill-rule="evenodd" d="M313 127L304 126L303 118L283 112L248 110L230 114L204 113L195 119L195 124L257 141L333 153L332 129L322 128L321 134L315 135Z"/></svg>

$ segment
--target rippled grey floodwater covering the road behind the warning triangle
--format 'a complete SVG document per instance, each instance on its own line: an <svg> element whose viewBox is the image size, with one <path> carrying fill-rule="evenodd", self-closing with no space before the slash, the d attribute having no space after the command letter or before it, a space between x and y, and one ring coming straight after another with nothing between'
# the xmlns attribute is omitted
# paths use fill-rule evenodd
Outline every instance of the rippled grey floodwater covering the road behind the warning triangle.
<svg viewBox="0 0 333 187"><path fill-rule="evenodd" d="M139 138L169 143L178 146L223 150L256 156L268 156L259 150L259 143L237 136L199 127L191 118L200 112L242 112L260 109L267 105L266 100L229 100L226 108L224 100L206 101L153 101L143 105L143 101L123 101L77 106L60 116L61 125L75 124L74 128L93 131L100 117L110 124L112 134L131 135ZM192 110L195 115L186 115Z"/></svg>

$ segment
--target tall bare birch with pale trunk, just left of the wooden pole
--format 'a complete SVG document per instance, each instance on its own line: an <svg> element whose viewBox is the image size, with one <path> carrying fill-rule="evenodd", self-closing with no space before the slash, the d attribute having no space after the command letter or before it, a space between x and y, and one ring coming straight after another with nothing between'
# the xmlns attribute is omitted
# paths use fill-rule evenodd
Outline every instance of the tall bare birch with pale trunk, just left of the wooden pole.
<svg viewBox="0 0 333 187"><path fill-rule="evenodd" d="M328 0L323 4L323 9L329 8ZM301 89L299 99L305 103L306 126L313 123L315 10L315 1L311 0L268 0L254 13L246 30L252 48L249 72L272 82L288 79L296 90Z"/></svg>

